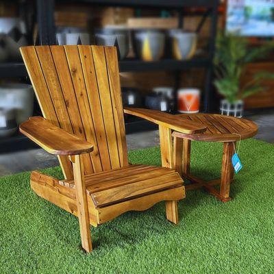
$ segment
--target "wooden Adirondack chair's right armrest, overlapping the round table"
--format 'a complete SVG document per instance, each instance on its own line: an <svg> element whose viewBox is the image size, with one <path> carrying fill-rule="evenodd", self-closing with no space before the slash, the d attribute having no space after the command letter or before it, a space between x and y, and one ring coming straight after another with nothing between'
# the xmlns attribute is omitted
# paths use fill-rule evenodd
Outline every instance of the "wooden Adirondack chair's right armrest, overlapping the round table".
<svg viewBox="0 0 274 274"><path fill-rule="evenodd" d="M163 125L169 129L184 134L194 134L206 131L205 125L200 125L188 119L178 117L176 115L160 112L158 110L147 110L145 108L124 108L124 112L138 116L147 121L151 121L157 125Z"/></svg>

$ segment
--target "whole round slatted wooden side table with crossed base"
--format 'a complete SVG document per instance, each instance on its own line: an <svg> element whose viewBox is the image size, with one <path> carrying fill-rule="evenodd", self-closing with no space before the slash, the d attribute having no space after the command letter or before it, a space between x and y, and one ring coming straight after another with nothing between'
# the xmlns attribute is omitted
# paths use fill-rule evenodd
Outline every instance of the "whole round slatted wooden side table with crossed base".
<svg viewBox="0 0 274 274"><path fill-rule="evenodd" d="M256 123L247 119L238 119L232 116L219 114L178 114L180 119L194 121L206 125L206 132L199 134L182 134L173 132L175 169L182 177L189 179L192 184L186 185L186 190L205 188L219 200L226 202L229 197L230 183L234 179L232 155L238 140L245 140L256 135ZM191 141L223 142L223 163L221 179L205 181L190 174L190 146ZM220 191L214 185L220 184Z"/></svg>

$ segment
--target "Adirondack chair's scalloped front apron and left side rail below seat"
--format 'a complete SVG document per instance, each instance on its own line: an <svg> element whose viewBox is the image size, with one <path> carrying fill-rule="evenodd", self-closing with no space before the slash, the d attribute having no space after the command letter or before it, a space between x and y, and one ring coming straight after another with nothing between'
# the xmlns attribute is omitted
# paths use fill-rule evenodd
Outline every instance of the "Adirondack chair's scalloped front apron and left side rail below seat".
<svg viewBox="0 0 274 274"><path fill-rule="evenodd" d="M51 203L54 203L56 206L78 216L74 187L60 185L58 179L39 173L38 171L32 172L31 186L32 190L40 197L47 199L47 201L51 201ZM90 225L97 227L98 224L110 221L129 210L147 210L159 201L177 201L184 197L186 197L184 186L179 186L177 188L162 190L129 201L115 203L103 208L95 208L92 198L90 195L87 195Z"/></svg>

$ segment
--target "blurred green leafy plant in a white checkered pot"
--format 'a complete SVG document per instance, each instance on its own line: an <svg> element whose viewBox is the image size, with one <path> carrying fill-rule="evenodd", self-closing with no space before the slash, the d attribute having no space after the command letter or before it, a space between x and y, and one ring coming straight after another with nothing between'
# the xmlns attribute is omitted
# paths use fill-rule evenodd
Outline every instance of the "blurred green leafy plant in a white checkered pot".
<svg viewBox="0 0 274 274"><path fill-rule="evenodd" d="M240 85L240 78L249 62L266 56L273 47L268 42L261 47L249 47L247 39L232 34L221 34L216 41L214 57L214 71L216 79L214 85L218 92L225 97L221 101L221 114L242 117L243 99L264 90L262 80L274 78L274 75L259 72L244 86Z"/></svg>

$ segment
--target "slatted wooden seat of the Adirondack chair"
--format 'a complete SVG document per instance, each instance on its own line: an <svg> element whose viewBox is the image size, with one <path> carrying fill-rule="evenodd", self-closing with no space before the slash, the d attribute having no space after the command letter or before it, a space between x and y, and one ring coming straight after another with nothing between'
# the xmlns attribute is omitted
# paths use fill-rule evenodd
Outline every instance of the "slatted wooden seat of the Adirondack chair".
<svg viewBox="0 0 274 274"><path fill-rule="evenodd" d="M140 164L85 175L85 182L86 191L95 208L136 199L183 184L182 178L174 169ZM73 180L59 183L62 186L74 187Z"/></svg>

